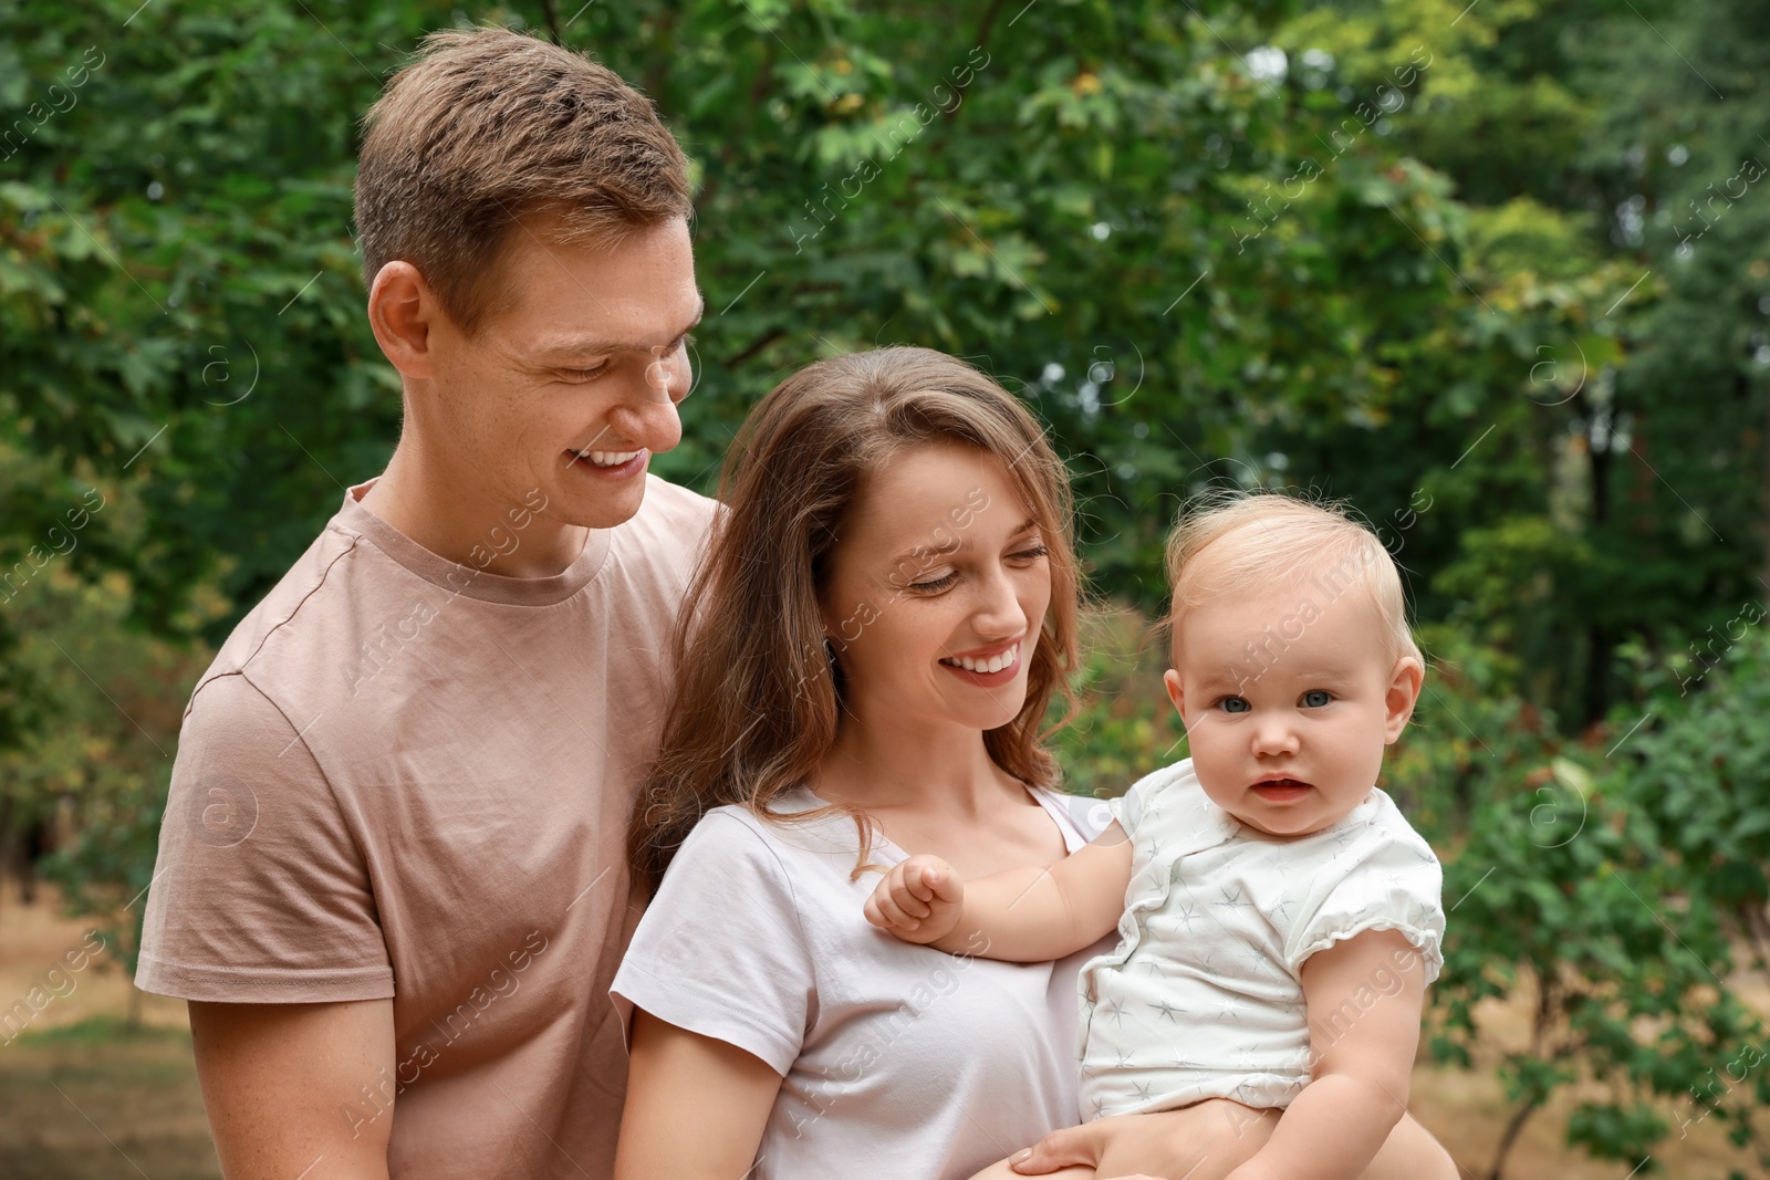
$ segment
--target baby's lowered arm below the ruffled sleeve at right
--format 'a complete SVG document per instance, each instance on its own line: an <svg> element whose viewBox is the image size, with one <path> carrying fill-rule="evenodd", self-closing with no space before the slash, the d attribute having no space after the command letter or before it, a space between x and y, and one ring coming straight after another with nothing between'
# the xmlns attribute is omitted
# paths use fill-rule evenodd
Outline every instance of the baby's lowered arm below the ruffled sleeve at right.
<svg viewBox="0 0 1770 1180"><path fill-rule="evenodd" d="M1230 1180L1365 1171L1407 1113L1425 978L1425 959L1397 931L1366 931L1310 955L1303 998L1313 1081Z"/></svg>

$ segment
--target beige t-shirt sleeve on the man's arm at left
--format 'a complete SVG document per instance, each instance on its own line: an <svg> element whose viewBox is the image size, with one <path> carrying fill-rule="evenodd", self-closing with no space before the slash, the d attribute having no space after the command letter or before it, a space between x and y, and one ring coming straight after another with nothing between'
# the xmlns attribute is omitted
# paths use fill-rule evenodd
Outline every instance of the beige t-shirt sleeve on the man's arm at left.
<svg viewBox="0 0 1770 1180"><path fill-rule="evenodd" d="M239 674L179 732L136 987L221 1003L393 996L356 839L289 718Z"/></svg>

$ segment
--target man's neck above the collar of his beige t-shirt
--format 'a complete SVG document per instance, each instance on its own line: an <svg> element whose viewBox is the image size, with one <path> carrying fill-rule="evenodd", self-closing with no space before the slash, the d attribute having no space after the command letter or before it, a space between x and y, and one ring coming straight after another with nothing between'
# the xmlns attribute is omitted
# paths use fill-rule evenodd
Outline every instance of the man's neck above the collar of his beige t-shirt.
<svg viewBox="0 0 1770 1180"><path fill-rule="evenodd" d="M400 439L388 471L358 501L405 538L437 557L510 579L563 573L584 552L589 529L543 517L522 495L462 479L409 442Z"/></svg>

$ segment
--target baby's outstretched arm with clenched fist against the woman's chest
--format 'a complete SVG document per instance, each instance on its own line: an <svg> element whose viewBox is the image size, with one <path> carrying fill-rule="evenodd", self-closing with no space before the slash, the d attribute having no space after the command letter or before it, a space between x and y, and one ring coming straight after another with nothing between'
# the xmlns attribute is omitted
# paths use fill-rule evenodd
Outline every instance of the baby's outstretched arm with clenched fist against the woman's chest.
<svg viewBox="0 0 1770 1180"><path fill-rule="evenodd" d="M1113 823L1055 865L1009 869L968 883L938 856L910 856L885 874L866 913L867 922L906 943L1044 962L1119 925L1129 883L1131 840Z"/></svg>

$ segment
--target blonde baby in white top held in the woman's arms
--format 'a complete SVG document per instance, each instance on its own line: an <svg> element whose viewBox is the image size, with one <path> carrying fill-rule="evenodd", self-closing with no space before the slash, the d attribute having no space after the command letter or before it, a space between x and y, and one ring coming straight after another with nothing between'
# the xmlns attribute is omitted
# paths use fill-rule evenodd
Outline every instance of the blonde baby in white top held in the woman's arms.
<svg viewBox="0 0 1770 1180"><path fill-rule="evenodd" d="M1117 925L1081 969L1081 1118L1234 1099L1283 1115L1232 1180L1351 1180L1405 1113L1443 962L1437 858L1375 787L1423 676L1400 575L1347 517L1258 494L1184 520L1168 577L1191 759L1044 870L959 881L910 856L867 918L1016 962ZM1108 1143L1099 1175L1129 1171L1163 1161Z"/></svg>

